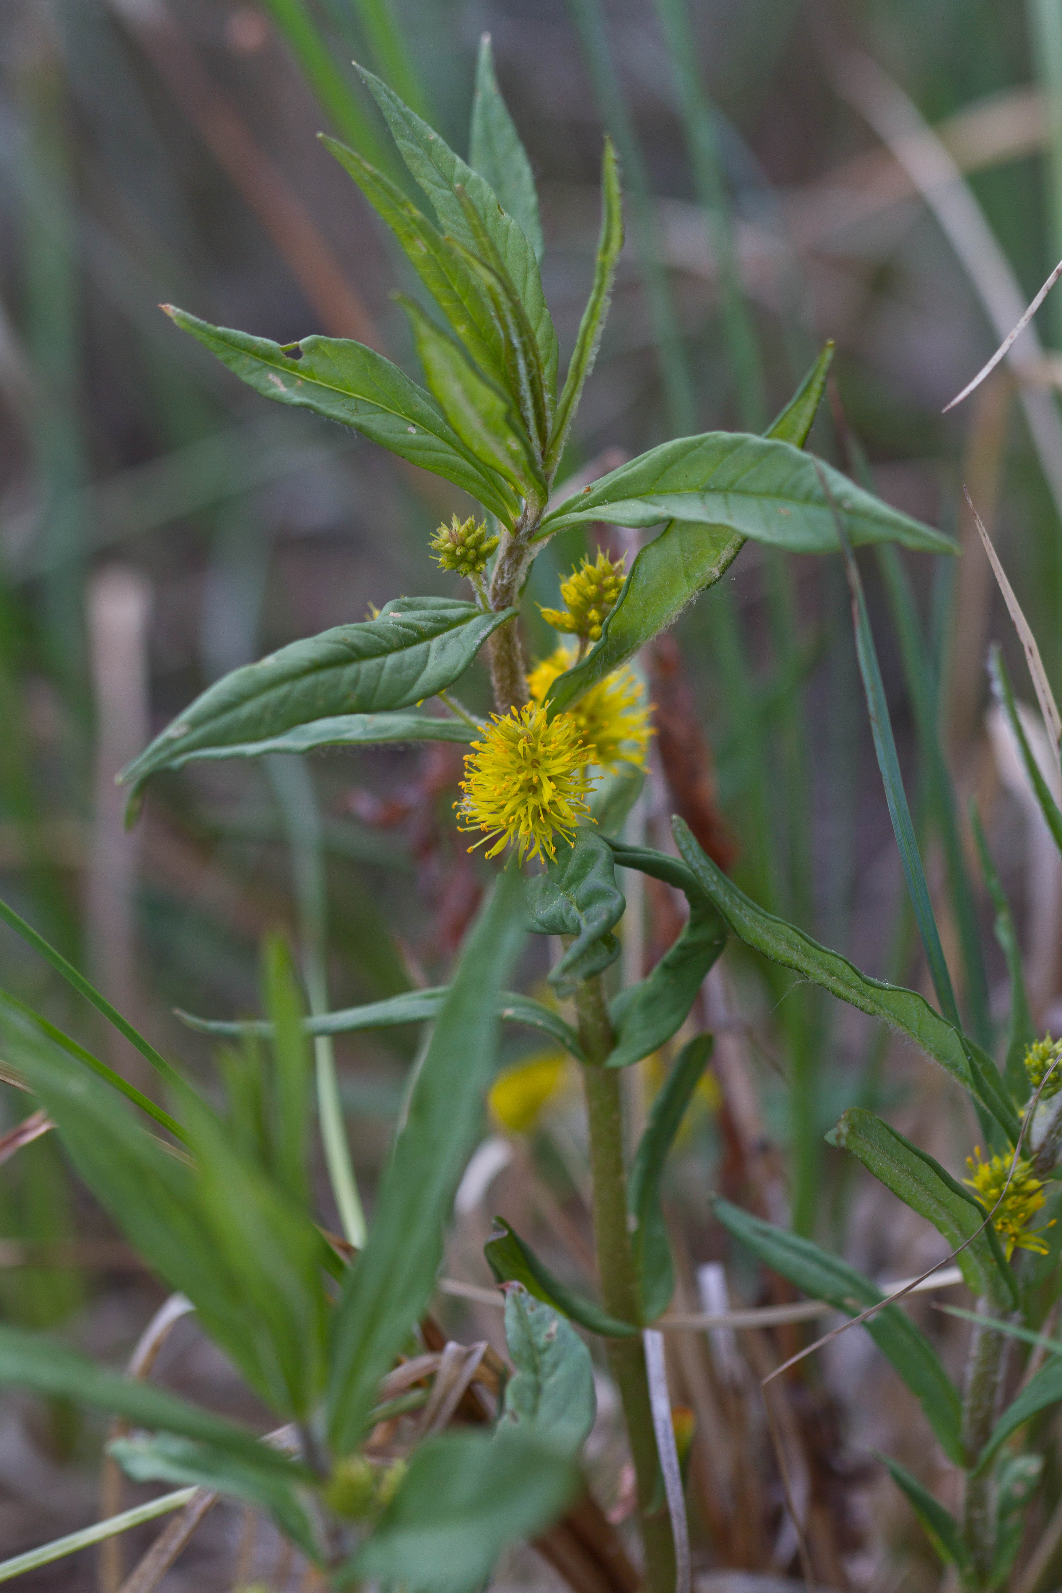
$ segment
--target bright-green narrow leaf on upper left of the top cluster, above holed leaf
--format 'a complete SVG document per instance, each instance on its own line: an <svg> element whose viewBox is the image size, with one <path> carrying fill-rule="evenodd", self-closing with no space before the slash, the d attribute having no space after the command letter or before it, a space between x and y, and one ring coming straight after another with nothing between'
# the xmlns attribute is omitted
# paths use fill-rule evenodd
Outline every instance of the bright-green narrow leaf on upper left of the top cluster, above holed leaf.
<svg viewBox="0 0 1062 1593"><path fill-rule="evenodd" d="M384 177L355 150L349 150L336 139L322 135L322 142L387 221L470 357L490 381L503 387L502 328L478 272L470 268L462 250L431 226L390 177Z"/></svg>

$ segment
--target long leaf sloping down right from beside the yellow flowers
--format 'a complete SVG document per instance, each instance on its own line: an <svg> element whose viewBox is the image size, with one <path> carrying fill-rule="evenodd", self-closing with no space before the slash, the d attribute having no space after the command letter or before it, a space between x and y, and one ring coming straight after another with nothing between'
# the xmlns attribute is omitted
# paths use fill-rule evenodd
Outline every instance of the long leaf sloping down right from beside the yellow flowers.
<svg viewBox="0 0 1062 1593"><path fill-rule="evenodd" d="M860 973L847 957L820 946L793 924L774 918L772 913L764 913L716 868L681 819L674 819L672 827L678 851L739 940L769 957L771 962L793 969L795 973L830 991L837 1000L858 1007L871 1018L882 1018L893 1029L914 1040L941 1067L946 1067L963 1088L973 1088L962 1037L930 1007L923 996Z"/></svg>

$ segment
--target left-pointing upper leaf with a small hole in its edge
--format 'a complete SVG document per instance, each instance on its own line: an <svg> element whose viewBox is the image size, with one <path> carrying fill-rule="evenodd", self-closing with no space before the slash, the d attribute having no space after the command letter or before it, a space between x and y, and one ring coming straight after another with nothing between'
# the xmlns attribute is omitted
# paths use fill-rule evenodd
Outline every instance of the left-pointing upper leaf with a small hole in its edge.
<svg viewBox="0 0 1062 1593"><path fill-rule="evenodd" d="M430 393L382 354L347 338L318 336L285 349L269 338L212 327L172 304L164 309L264 398L350 425L409 464L452 481L506 524L513 523L516 503L508 487L482 470Z"/></svg>

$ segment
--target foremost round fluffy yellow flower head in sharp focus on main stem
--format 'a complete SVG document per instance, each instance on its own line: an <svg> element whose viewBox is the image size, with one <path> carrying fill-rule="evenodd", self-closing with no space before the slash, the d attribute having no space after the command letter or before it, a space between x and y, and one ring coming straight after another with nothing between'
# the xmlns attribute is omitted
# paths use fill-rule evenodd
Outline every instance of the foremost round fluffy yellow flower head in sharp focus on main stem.
<svg viewBox="0 0 1062 1593"><path fill-rule="evenodd" d="M459 828L486 830L486 840L495 843L487 857L510 844L519 846L521 862L527 855L556 857L554 835L572 840L580 819L589 816L586 798L594 784L588 768L592 753L572 714L549 722L538 703L494 714L471 749L463 796L454 803Z"/></svg>

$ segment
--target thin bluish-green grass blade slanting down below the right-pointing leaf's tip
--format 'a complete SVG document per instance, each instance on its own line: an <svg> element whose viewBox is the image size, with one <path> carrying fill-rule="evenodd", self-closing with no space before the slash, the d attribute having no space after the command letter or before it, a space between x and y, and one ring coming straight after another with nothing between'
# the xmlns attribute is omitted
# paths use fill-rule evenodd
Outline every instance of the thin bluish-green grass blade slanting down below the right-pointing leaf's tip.
<svg viewBox="0 0 1062 1593"><path fill-rule="evenodd" d="M825 472L820 472L820 481L823 492L833 502ZM914 906L914 916L919 926L919 935L922 937L922 946L925 949L925 959L928 962L930 978L933 980L933 989L936 991L939 1008L949 1023L952 1023L957 1029L962 1029L962 1023L959 1018L959 1007L955 1005L955 992L952 989L951 973L947 972L947 962L944 961L941 937L936 929L936 919L933 918L933 905L930 902L930 889L925 883L925 871L922 868L919 843L916 840L914 825L911 824L911 809L908 808L908 796L903 789L903 777L900 774L900 758L896 757L896 742L893 739L892 722L888 718L885 687L882 683L880 667L877 664L877 652L874 650L874 636L871 632L871 621L866 612L863 581L860 578L860 569L858 564L855 562L855 556L849 543L849 534L844 527L844 521L841 515L836 513L836 510L834 516L837 527L837 542L841 543L841 556L844 559L845 573L849 577L849 591L852 593L852 623L855 626L855 652L860 661L860 675L863 677L863 690L866 693L866 710L871 720L871 733L874 736L874 752L877 753L877 766L880 769L882 782L885 785L885 801L888 803L888 817L892 819L893 835L896 836L896 846L900 849L900 863L903 867L903 875L908 883L911 905Z"/></svg>

